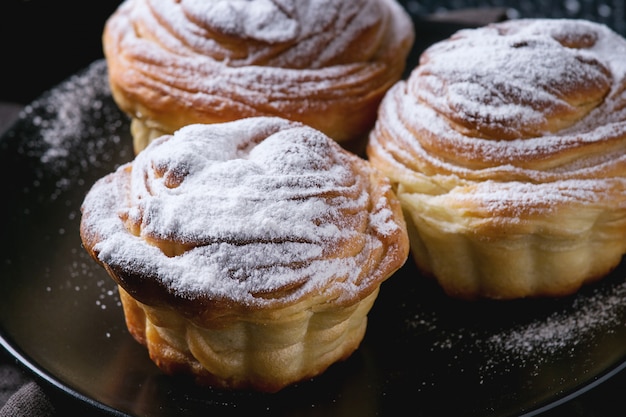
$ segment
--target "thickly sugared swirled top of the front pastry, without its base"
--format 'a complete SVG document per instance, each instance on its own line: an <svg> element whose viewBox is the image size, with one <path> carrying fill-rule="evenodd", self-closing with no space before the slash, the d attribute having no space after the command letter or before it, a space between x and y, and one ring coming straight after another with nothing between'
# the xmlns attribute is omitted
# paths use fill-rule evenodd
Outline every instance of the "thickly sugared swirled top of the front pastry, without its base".
<svg viewBox="0 0 626 417"><path fill-rule="evenodd" d="M157 139L93 186L81 236L133 297L194 313L353 303L408 253L388 180L279 118Z"/></svg>

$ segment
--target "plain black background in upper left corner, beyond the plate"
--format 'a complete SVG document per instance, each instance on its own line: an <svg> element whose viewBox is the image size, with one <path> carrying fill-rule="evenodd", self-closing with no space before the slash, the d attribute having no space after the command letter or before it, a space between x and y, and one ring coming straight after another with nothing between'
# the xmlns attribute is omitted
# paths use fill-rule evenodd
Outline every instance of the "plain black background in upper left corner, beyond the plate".
<svg viewBox="0 0 626 417"><path fill-rule="evenodd" d="M1 0L0 100L28 104L102 58L101 34L119 0Z"/></svg>

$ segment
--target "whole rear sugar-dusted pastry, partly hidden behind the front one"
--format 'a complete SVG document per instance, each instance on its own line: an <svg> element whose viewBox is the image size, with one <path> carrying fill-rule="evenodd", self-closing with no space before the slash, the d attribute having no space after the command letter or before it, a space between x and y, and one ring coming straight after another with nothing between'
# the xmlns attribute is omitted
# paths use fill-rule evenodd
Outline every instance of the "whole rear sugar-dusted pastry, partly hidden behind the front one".
<svg viewBox="0 0 626 417"><path fill-rule="evenodd" d="M365 140L413 39L395 0L127 0L103 33L137 152L188 124L251 116Z"/></svg>

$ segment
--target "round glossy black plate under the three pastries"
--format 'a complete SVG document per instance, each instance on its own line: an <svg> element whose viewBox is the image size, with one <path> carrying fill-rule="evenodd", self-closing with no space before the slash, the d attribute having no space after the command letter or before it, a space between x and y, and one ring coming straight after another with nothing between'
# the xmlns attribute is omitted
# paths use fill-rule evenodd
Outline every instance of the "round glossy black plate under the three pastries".
<svg viewBox="0 0 626 417"><path fill-rule="evenodd" d="M0 141L0 342L43 380L122 416L510 416L623 367L626 265L559 300L461 302L409 260L383 284L347 361L273 394L161 374L128 334L113 281L80 244L91 184L132 158L106 66L27 106Z"/></svg>

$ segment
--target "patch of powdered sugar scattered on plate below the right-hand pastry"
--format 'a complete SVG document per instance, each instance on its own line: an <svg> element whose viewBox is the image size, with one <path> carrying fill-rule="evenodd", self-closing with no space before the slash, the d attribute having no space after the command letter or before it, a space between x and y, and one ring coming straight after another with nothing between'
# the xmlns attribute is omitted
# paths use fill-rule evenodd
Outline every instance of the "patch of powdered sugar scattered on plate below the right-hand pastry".
<svg viewBox="0 0 626 417"><path fill-rule="evenodd" d="M580 349L596 344L596 338L622 325L626 308L626 282L599 286L580 292L571 305L526 324L514 324L499 331L443 328L436 312L420 312L406 321L414 332L435 335L431 351L450 351L450 365L458 366L465 354L480 353L486 358L479 367L479 382L520 367L538 375L541 367L556 358L576 357ZM532 311L529 312L532 314ZM464 372L459 370L459 372Z"/></svg>

